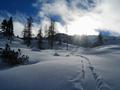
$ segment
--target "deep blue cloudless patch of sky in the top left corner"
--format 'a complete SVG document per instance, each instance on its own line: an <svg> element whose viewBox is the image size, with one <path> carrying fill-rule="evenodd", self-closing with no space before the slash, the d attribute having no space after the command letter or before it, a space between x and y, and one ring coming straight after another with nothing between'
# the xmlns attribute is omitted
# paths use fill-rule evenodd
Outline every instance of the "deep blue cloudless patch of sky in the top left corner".
<svg viewBox="0 0 120 90"><path fill-rule="evenodd" d="M26 15L35 15L37 9L32 6L32 3L35 3L35 0L1 0L0 11L7 11L12 14L21 12Z"/></svg>

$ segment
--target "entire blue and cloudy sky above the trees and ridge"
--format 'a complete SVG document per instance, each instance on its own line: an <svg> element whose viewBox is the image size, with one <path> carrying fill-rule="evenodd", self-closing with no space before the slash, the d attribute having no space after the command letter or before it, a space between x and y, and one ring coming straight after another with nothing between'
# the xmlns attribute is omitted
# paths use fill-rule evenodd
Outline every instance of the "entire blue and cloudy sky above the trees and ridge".
<svg viewBox="0 0 120 90"><path fill-rule="evenodd" d="M0 0L0 22L13 16L16 35L20 35L28 16L32 16L33 33L56 21L56 30L63 33L98 34L118 32L120 0ZM66 26L68 32L66 32Z"/></svg>

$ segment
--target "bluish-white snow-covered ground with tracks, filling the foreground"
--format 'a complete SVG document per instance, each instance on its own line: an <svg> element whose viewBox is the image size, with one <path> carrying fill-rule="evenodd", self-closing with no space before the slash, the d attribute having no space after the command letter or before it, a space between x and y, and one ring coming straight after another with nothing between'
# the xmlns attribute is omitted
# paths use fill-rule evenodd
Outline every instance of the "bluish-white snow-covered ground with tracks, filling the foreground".
<svg viewBox="0 0 120 90"><path fill-rule="evenodd" d="M38 50L16 39L12 48L29 55L30 64L7 67L1 63L0 90L120 90L119 45Z"/></svg>

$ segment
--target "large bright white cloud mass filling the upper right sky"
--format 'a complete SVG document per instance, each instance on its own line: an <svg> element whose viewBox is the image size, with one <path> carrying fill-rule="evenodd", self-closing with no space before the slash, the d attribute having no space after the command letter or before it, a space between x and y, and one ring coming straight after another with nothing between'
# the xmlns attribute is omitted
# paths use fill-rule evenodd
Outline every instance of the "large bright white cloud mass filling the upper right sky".
<svg viewBox="0 0 120 90"><path fill-rule="evenodd" d="M120 33L120 0L70 0L69 5L66 0L52 0L52 3L46 3L47 1L49 0L38 0L36 3L36 7L39 7L39 3L43 3L38 15L42 18L51 14L61 16L68 27L76 29L74 32L69 28L71 33L78 34L80 29L88 34L95 34L94 29L106 29ZM90 1L93 3L90 4ZM57 27L58 30L64 29L65 31L65 26L59 22L57 22Z"/></svg>

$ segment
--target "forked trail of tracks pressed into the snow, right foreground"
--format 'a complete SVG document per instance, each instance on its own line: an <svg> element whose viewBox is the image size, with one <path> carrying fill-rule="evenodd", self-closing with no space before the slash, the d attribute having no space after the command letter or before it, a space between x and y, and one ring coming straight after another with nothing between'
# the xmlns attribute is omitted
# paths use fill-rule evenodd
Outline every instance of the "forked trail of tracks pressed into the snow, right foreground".
<svg viewBox="0 0 120 90"><path fill-rule="evenodd" d="M74 55L76 51L77 49L72 51L70 54ZM88 68L92 73L93 79L96 81L96 85L95 85L96 90L113 90L111 86L108 85L103 80L102 76L96 71L95 67L92 65L89 58L87 58L86 56L80 55L80 54L76 56L79 56L87 61L88 66L89 66ZM82 64L81 71L77 72L77 75L74 76L73 79L70 80L73 83L74 87L78 90L84 90L83 81L85 79L85 70L84 70L85 66L84 66L83 60L81 60L81 64Z"/></svg>

